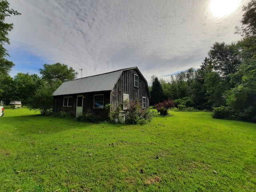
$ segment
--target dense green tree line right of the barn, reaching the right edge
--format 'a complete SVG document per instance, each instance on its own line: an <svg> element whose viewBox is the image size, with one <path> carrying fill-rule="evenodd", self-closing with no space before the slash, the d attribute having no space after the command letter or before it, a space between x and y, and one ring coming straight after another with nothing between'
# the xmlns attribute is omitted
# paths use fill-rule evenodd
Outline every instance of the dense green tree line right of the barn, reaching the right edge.
<svg viewBox="0 0 256 192"><path fill-rule="evenodd" d="M213 110L216 118L256 122L256 0L243 6L241 40L215 42L199 69L169 81L152 76L151 105L172 99L176 107Z"/></svg>

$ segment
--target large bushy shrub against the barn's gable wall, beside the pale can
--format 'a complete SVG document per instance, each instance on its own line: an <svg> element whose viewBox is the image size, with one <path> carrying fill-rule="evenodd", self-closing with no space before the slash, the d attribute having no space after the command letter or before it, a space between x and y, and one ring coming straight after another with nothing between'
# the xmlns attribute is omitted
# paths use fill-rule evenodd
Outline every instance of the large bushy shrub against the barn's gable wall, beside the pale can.
<svg viewBox="0 0 256 192"><path fill-rule="evenodd" d="M125 122L127 124L146 124L152 120L153 114L149 109L142 109L142 103L129 101L125 103L127 111Z"/></svg>

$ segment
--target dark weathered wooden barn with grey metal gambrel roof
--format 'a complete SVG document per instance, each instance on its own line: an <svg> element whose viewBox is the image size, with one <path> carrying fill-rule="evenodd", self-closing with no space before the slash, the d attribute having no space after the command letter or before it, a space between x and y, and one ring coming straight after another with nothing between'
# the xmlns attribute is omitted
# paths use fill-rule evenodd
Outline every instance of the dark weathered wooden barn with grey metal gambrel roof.
<svg viewBox="0 0 256 192"><path fill-rule="evenodd" d="M149 107L150 99L148 83L137 67L64 82L52 96L53 112L94 114L102 120L118 106L126 110L122 105L126 99L140 101L142 108ZM112 108L105 108L106 104Z"/></svg>

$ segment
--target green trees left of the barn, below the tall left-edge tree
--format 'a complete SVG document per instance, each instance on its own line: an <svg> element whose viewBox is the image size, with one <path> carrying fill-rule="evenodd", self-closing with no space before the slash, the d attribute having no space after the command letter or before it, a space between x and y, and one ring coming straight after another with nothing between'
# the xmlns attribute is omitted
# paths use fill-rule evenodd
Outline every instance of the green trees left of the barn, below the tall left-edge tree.
<svg viewBox="0 0 256 192"><path fill-rule="evenodd" d="M6 75L0 81L0 98L6 105L11 100L21 100L30 109L47 114L52 109L52 93L66 80L73 80L78 72L65 64L44 64L37 74L18 73Z"/></svg>

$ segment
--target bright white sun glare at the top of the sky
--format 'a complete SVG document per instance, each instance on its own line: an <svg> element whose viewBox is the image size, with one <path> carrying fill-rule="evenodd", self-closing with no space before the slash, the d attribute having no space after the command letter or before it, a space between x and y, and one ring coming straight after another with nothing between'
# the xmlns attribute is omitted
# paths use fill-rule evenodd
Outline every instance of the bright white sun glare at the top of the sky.
<svg viewBox="0 0 256 192"><path fill-rule="evenodd" d="M210 10L216 17L223 17L235 11L241 0L212 0Z"/></svg>

